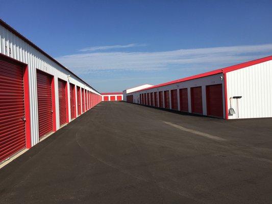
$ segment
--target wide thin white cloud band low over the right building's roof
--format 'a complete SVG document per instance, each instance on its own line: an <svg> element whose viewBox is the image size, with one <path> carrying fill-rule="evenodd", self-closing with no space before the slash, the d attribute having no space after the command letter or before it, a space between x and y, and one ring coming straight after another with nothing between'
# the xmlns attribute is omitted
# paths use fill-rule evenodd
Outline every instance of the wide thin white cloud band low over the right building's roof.
<svg viewBox="0 0 272 204"><path fill-rule="evenodd" d="M180 49L165 52L96 52L57 58L78 74L120 70L163 70L173 67L200 71L271 55L272 44ZM186 70L187 71L187 70Z"/></svg>

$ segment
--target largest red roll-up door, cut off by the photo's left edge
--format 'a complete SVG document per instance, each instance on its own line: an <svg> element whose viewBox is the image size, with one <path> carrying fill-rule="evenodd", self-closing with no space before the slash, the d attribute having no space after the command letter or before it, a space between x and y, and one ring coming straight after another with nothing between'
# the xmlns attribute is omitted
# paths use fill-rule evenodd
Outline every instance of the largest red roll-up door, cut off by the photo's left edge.
<svg viewBox="0 0 272 204"><path fill-rule="evenodd" d="M0 162L26 147L23 69L0 60Z"/></svg>

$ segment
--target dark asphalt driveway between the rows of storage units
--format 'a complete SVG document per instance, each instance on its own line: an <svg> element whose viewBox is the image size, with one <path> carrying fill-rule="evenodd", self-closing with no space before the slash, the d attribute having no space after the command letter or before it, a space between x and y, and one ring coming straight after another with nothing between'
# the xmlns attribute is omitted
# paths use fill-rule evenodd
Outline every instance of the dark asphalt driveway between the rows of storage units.
<svg viewBox="0 0 272 204"><path fill-rule="evenodd" d="M272 203L272 119L104 102L0 169L0 203Z"/></svg>

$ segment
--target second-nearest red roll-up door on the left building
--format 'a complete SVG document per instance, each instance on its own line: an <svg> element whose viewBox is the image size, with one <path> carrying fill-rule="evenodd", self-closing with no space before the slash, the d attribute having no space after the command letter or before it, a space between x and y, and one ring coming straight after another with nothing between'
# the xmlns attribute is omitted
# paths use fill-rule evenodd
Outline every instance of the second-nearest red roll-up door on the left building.
<svg viewBox="0 0 272 204"><path fill-rule="evenodd" d="M37 70L39 137L53 132L52 80L51 75Z"/></svg>

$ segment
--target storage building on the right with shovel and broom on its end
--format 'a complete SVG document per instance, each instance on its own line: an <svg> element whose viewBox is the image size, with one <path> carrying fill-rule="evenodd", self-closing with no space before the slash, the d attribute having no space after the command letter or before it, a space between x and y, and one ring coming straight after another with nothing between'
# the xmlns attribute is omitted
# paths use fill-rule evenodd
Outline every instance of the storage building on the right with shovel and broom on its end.
<svg viewBox="0 0 272 204"><path fill-rule="evenodd" d="M128 102L225 119L272 117L272 56L127 94Z"/></svg>

